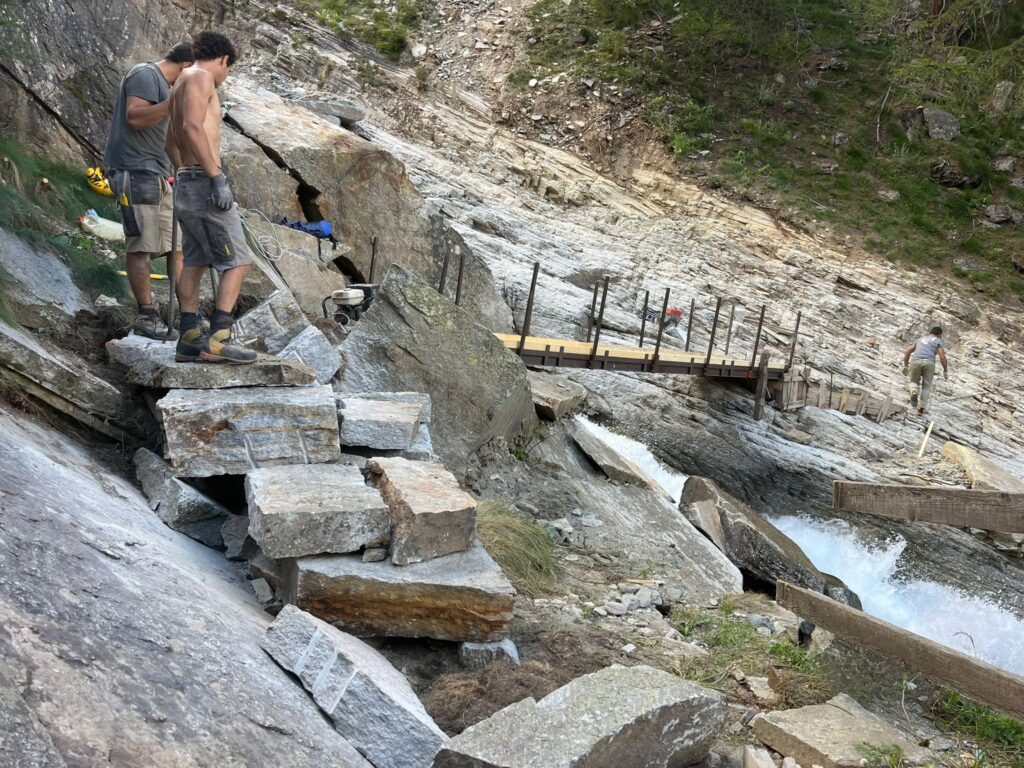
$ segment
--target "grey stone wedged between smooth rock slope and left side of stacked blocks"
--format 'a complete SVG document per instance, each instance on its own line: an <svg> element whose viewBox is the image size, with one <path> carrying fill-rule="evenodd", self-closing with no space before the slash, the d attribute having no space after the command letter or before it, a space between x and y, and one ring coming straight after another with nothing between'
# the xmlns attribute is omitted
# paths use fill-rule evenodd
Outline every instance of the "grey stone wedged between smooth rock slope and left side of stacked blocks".
<svg viewBox="0 0 1024 768"><path fill-rule="evenodd" d="M168 527L208 547L224 546L220 527L230 514L227 509L175 477L167 462L147 449L135 452L134 463L150 509Z"/></svg>

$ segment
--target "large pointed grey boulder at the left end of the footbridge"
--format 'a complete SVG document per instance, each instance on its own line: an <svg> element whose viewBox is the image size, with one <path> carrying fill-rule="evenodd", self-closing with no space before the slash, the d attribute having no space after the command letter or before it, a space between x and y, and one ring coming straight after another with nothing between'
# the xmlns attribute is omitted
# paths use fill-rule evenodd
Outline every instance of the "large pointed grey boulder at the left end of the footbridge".
<svg viewBox="0 0 1024 768"><path fill-rule="evenodd" d="M393 266L341 347L340 387L415 390L433 402L434 450L459 466L481 443L537 423L522 364L465 310Z"/></svg>

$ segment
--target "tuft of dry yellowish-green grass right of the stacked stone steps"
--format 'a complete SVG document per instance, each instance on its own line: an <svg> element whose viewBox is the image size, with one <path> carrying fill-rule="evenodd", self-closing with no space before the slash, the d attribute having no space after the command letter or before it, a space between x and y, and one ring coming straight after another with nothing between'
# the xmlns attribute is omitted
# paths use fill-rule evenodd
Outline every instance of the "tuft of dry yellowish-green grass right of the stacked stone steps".
<svg viewBox="0 0 1024 768"><path fill-rule="evenodd" d="M480 502L476 530L516 590L528 597L557 591L554 544L543 527L500 502Z"/></svg>

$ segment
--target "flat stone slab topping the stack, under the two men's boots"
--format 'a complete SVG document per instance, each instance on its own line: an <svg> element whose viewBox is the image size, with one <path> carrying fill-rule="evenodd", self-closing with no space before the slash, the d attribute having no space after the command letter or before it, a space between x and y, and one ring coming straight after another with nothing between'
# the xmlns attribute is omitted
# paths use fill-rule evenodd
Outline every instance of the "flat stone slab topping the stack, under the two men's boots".
<svg viewBox="0 0 1024 768"><path fill-rule="evenodd" d="M106 342L106 356L128 369L128 381L157 389L286 387L316 383L316 372L301 361L260 355L251 366L175 362L174 342L129 334Z"/></svg>

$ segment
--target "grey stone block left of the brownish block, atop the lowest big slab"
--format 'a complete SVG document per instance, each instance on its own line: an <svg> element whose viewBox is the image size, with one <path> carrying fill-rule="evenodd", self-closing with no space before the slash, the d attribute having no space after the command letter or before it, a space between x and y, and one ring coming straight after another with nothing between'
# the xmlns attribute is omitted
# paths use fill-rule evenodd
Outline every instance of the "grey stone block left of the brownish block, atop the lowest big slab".
<svg viewBox="0 0 1024 768"><path fill-rule="evenodd" d="M246 475L249 534L271 558L387 544L388 508L352 466L267 467Z"/></svg>

